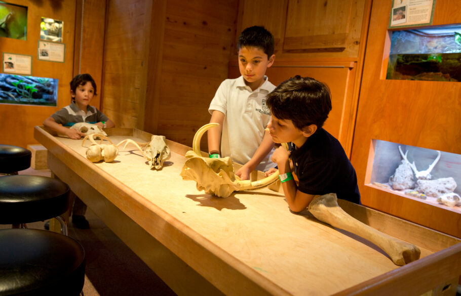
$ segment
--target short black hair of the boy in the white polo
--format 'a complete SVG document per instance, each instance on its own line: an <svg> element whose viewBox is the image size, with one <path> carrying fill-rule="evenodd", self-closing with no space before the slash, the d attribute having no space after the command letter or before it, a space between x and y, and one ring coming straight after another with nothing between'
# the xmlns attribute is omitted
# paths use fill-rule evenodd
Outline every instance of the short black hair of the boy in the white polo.
<svg viewBox="0 0 461 296"><path fill-rule="evenodd" d="M274 35L261 26L248 27L240 33L237 50L246 46L260 48L270 58L274 54Z"/></svg>

